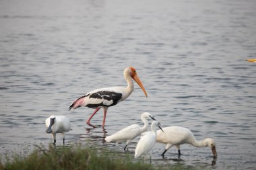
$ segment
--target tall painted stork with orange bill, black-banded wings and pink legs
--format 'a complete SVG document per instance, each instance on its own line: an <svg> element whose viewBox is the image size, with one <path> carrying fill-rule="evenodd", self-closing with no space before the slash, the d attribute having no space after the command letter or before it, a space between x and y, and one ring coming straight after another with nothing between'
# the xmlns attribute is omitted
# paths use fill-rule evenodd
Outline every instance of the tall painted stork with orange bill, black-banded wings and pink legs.
<svg viewBox="0 0 256 170"><path fill-rule="evenodd" d="M129 95L131 95L134 89L133 79L136 81L139 87L141 87L146 97L148 97L148 94L145 88L143 87L136 70L133 67L126 68L123 72L123 75L125 77L125 81L127 81L128 84L126 88L107 87L90 91L86 95L83 95L78 99L75 99L75 101L73 101L73 103L70 105L69 110L79 108L81 106L96 109L94 113L90 116L90 118L86 121L86 124L96 128L96 126L90 123L90 120L92 119L94 114L96 114L98 110L100 110L100 108L103 108L104 117L102 121L102 128L104 128L106 111L110 106L116 105L117 103L125 100L127 97L129 97Z"/></svg>

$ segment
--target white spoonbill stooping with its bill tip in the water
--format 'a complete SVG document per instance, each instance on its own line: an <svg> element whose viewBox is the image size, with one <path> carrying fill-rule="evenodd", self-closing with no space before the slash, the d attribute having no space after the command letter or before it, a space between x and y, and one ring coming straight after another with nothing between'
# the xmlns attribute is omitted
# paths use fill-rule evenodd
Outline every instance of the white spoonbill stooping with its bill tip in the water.
<svg viewBox="0 0 256 170"><path fill-rule="evenodd" d="M162 157L168 149L172 146L178 148L179 155L181 155L180 145L181 144L192 144L196 147L206 147L210 146L212 148L212 154L217 157L216 153L216 143L212 138L205 138L204 140L197 141L194 134L188 128L183 128L181 126L169 126L163 128L164 133L160 130L157 131L156 142L161 142L166 144L165 150L162 153Z"/></svg>

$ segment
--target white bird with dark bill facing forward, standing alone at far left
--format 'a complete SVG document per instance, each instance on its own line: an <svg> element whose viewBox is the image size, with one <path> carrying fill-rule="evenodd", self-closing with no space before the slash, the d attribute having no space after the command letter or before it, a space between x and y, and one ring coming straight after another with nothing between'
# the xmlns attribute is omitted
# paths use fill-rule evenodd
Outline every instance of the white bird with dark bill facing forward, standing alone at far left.
<svg viewBox="0 0 256 170"><path fill-rule="evenodd" d="M69 132L71 129L70 121L65 116L55 116L52 115L45 120L46 133L51 133L53 135L54 144L56 143L56 134L63 134L63 144L65 143L65 132Z"/></svg>

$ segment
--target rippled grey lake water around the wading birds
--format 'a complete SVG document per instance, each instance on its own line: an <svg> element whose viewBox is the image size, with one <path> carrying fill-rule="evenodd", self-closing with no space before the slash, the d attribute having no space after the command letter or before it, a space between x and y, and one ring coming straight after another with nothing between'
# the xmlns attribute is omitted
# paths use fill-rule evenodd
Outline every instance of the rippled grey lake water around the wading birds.
<svg viewBox="0 0 256 170"><path fill-rule="evenodd" d="M255 169L256 63L245 61L256 58L255 7L253 0L1 0L1 155L48 146L44 120L51 114L71 120L67 144L90 139L123 152L124 143L104 143L104 136L141 124L140 114L150 112L162 127L214 138L218 153L214 162L210 148L184 144L180 159L174 147L162 159L165 145L156 144L152 163ZM148 98L135 84L127 100L109 108L105 130L87 129L94 110L68 111L92 89L126 87L129 66ZM92 124L102 124L102 115Z"/></svg>

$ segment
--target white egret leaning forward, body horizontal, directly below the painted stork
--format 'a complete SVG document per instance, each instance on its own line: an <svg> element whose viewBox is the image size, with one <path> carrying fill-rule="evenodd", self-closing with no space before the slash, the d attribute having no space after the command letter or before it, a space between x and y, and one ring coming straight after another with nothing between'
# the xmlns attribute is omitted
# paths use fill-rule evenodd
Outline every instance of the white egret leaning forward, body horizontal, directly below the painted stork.
<svg viewBox="0 0 256 170"><path fill-rule="evenodd" d="M148 113L144 112L141 114L141 121L144 123L144 126L141 127L138 124L132 124L131 126L128 126L126 128L123 128L122 130L119 130L113 135L107 136L105 138L106 142L116 141L116 142L123 142L126 141L125 148L128 150L128 145L137 136L139 136L142 132L145 132L148 129L148 120L147 118L151 118L152 120L155 120L153 116Z"/></svg>

